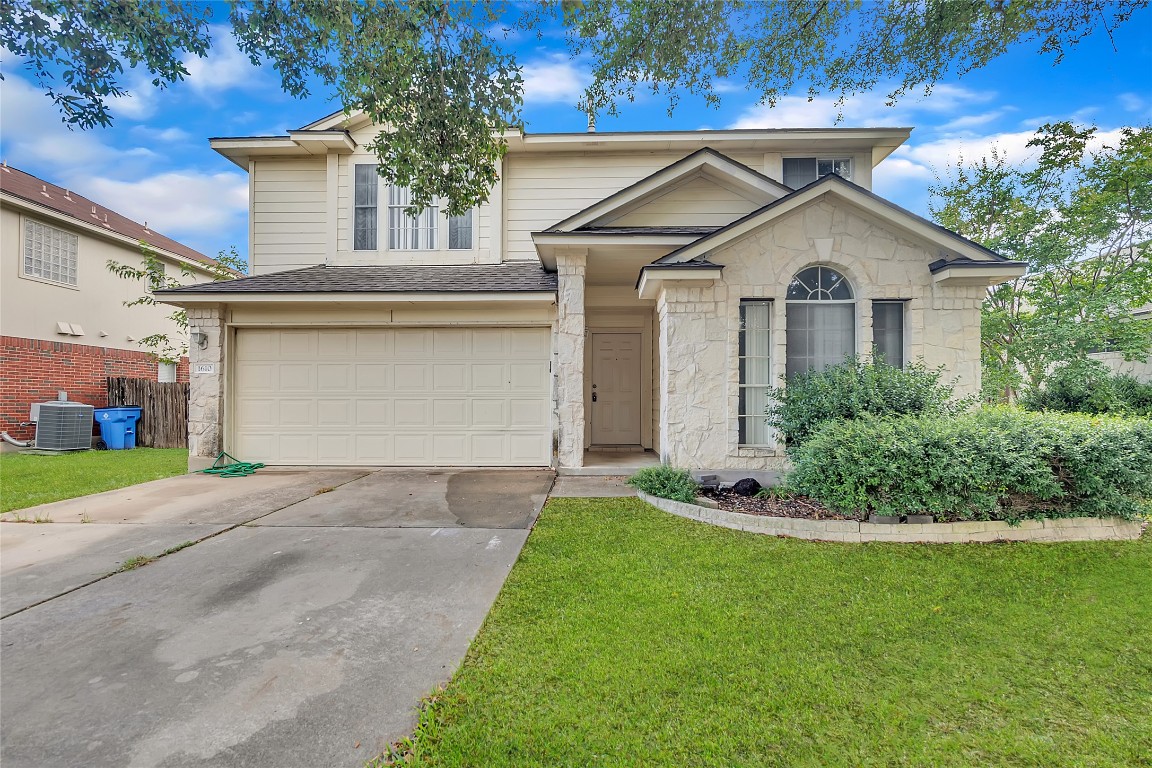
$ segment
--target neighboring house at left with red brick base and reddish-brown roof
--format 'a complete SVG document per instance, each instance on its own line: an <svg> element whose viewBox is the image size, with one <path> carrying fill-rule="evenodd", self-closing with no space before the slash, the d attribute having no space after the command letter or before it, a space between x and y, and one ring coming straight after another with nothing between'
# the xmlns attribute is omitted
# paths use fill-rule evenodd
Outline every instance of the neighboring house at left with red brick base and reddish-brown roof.
<svg viewBox="0 0 1152 768"><path fill-rule="evenodd" d="M144 287L108 271L114 259L143 265L147 242L180 277L180 265L196 279L212 259L126 219L75 190L0 165L0 429L17 439L29 405L55 400L63 390L76 402L107 405L108 377L188 380L187 358L158 363L136 343L156 333L176 335L173 307L124 306ZM187 279L189 282L192 279Z"/></svg>

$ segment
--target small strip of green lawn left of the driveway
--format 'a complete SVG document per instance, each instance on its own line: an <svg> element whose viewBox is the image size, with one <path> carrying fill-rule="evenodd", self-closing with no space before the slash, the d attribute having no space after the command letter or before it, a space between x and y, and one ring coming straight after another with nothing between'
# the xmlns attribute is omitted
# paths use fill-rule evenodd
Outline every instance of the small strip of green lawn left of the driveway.
<svg viewBox="0 0 1152 768"><path fill-rule="evenodd" d="M187 448L0 454L0 512L86 496L188 471Z"/></svg>

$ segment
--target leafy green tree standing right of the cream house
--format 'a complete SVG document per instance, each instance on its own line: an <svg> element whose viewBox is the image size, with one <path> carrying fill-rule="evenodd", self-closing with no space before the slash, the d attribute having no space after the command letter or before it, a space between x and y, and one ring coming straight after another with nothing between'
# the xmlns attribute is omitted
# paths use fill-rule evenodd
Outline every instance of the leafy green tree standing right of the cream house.
<svg viewBox="0 0 1152 768"><path fill-rule="evenodd" d="M1054 363L1111 349L1144 359L1152 320L1152 128L1086 152L1094 128L1044 126L1029 143L1036 168L994 153L960 164L933 188L945 227L1009 258L1028 274L998 286L984 304L985 380L1011 398L1039 386Z"/></svg>

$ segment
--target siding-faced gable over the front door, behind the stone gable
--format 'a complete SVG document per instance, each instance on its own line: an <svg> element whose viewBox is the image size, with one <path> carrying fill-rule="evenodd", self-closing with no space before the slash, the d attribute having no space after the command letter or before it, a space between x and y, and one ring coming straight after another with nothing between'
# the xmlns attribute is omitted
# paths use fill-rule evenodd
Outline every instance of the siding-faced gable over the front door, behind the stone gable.
<svg viewBox="0 0 1152 768"><path fill-rule="evenodd" d="M606 226L723 226L790 191L780 182L704 147L553 225L547 231ZM702 199L714 205L699 205ZM697 203L695 207L694 201ZM700 221L684 218L692 212L702 216Z"/></svg>

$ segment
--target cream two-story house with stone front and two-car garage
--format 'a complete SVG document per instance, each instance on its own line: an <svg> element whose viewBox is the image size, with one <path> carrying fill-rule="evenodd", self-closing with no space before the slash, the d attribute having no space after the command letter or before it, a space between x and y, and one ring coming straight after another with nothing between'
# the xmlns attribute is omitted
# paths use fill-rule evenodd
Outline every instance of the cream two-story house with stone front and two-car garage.
<svg viewBox="0 0 1152 768"><path fill-rule="evenodd" d="M404 213L377 131L212 139L253 276L165 295L207 334L194 466L772 469L771 385L874 345L976 393L980 302L1024 272L870 191L909 129L514 132L452 218Z"/></svg>

